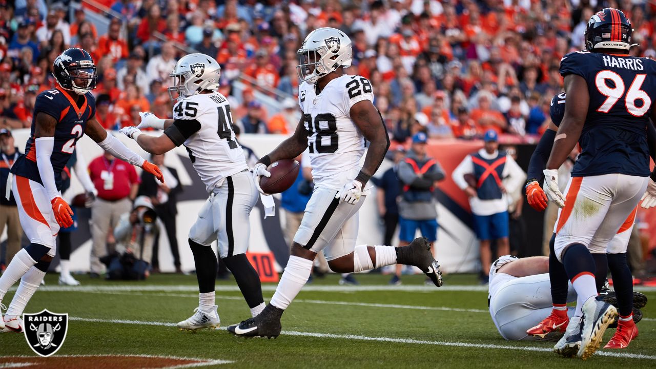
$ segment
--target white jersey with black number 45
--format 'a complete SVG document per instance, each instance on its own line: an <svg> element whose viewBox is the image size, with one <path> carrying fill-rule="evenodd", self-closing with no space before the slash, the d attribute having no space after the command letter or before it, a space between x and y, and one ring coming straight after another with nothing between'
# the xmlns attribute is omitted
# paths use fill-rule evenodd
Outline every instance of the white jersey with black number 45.
<svg viewBox="0 0 656 369"><path fill-rule="evenodd" d="M164 133L176 146L184 144L207 192L248 170L226 97L215 92L183 98L173 106L173 119Z"/></svg>

